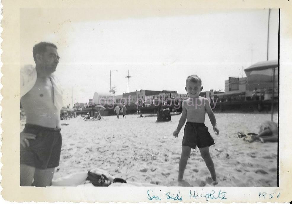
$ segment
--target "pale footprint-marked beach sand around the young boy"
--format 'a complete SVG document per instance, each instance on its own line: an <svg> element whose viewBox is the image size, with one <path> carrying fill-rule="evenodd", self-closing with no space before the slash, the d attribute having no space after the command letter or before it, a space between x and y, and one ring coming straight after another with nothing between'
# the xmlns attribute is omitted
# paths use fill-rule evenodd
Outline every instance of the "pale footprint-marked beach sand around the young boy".
<svg viewBox="0 0 292 204"><path fill-rule="evenodd" d="M209 147L218 186L277 186L277 143L248 143L236 133L258 133L259 125L270 120L269 114L217 113L219 135L213 133L215 145ZM106 116L100 121L83 118L62 120L62 152L54 179L79 171L101 168L127 181L178 186L177 174L183 128L179 137L172 136L180 115L171 122L155 123L156 117L138 115ZM274 115L277 118L277 115ZM21 120L24 128L25 118ZM22 130L21 129L21 130ZM184 173L191 186L209 186L210 173L200 156L192 150Z"/></svg>

